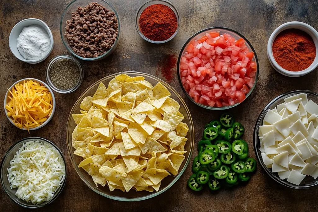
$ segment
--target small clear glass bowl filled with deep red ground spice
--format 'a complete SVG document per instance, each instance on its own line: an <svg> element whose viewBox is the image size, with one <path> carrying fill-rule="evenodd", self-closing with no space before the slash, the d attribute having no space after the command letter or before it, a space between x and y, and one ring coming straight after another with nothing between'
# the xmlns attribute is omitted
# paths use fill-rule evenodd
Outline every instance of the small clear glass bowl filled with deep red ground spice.
<svg viewBox="0 0 318 212"><path fill-rule="evenodd" d="M174 38L179 30L180 16L169 1L151 0L137 10L135 27L146 41L162 44Z"/></svg>

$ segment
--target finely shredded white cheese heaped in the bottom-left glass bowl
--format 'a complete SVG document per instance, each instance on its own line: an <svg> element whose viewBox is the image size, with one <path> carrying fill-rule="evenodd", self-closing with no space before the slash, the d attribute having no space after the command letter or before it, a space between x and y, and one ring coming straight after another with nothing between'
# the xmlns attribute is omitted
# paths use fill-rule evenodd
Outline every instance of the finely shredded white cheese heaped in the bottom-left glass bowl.
<svg viewBox="0 0 318 212"><path fill-rule="evenodd" d="M8 180L18 198L40 204L51 200L65 180L65 164L51 144L28 141L10 161Z"/></svg>

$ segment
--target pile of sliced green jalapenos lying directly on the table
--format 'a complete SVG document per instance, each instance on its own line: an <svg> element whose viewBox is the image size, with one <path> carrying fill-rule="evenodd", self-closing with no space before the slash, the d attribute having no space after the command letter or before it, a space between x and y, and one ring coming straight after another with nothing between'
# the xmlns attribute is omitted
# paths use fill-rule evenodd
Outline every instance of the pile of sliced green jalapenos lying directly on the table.
<svg viewBox="0 0 318 212"><path fill-rule="evenodd" d="M230 113L205 125L203 139L197 143L188 186L200 191L207 184L212 191L248 181L256 170L256 161L248 157L248 145L241 139L244 127Z"/></svg>

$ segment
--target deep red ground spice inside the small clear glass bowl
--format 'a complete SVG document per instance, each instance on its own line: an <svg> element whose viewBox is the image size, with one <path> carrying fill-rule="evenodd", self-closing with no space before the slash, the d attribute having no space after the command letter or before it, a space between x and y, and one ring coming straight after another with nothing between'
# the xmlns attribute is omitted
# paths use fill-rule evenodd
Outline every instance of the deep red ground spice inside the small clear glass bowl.
<svg viewBox="0 0 318 212"><path fill-rule="evenodd" d="M146 38L163 41L176 32L178 22L176 14L170 7L164 4L153 4L142 11L139 26Z"/></svg>

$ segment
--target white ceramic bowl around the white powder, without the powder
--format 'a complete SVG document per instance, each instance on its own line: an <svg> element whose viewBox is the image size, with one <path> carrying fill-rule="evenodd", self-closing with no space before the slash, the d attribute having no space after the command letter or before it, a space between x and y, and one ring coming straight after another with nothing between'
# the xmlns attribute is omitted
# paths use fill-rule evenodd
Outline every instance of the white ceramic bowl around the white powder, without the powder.
<svg viewBox="0 0 318 212"><path fill-rule="evenodd" d="M24 59L22 57L19 50L17 49L17 38L19 37L23 27L30 26L33 24L39 25L46 30L47 34L50 37L51 44L50 44L49 51L47 51L46 54L43 55L42 58L37 59L37 60L27 60L27 59ZM39 62L42 62L43 60L45 60L51 54L51 52L53 50L53 44L54 44L53 35L52 35L50 28L43 21L41 21L40 19L37 19L37 18L28 18L28 19L24 19L24 20L20 21L12 28L12 30L10 32L10 36L9 36L9 47L10 47L12 54L16 58L18 58L19 60L26 62L26 63L30 63L30 64L36 64L36 63L39 63Z"/></svg>

